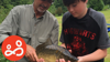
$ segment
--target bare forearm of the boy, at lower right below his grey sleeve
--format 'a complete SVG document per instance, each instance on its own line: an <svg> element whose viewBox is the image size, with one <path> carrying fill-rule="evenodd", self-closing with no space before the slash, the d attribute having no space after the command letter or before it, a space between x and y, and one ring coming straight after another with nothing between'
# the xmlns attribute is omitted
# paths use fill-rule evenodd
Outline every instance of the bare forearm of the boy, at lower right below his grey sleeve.
<svg viewBox="0 0 110 62"><path fill-rule="evenodd" d="M95 52L84 55L84 56L78 56L78 62L87 62L87 61L98 61L100 59L103 59L107 55L107 49L98 49Z"/></svg>

